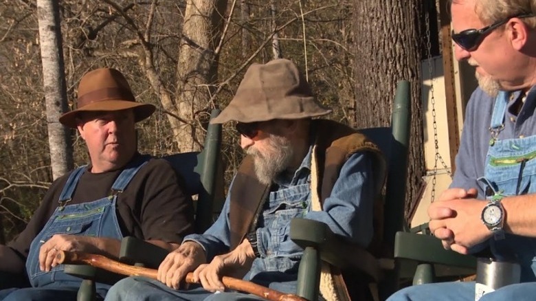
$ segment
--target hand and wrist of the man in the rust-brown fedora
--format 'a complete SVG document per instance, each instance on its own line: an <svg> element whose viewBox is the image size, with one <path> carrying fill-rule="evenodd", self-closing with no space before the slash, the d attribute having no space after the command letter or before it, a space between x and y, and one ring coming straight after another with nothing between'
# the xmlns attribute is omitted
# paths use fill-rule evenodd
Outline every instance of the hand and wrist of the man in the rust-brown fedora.
<svg viewBox="0 0 536 301"><path fill-rule="evenodd" d="M111 240L110 238L102 238L102 240ZM70 252L87 252L102 254L102 249L98 247L102 245L101 238L92 236L80 236L71 234L55 234L48 241L44 242L39 249L39 268L41 271L50 271L52 267L56 267L56 253L58 251ZM117 240L115 243L119 244ZM117 257L117 255L115 255Z"/></svg>

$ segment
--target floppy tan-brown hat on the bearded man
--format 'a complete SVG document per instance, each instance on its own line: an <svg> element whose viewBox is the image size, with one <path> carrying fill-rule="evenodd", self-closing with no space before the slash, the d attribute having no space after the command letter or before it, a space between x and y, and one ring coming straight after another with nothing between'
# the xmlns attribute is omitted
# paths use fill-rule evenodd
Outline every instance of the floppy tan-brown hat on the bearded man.
<svg viewBox="0 0 536 301"><path fill-rule="evenodd" d="M328 113L331 109L317 102L298 67L280 58L249 66L236 95L212 123L301 119Z"/></svg>

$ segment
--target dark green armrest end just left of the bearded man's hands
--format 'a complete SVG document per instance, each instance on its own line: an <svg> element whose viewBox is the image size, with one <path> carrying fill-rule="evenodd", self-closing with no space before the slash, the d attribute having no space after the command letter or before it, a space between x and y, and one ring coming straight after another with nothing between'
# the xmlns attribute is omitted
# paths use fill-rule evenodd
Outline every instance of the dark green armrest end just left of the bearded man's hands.
<svg viewBox="0 0 536 301"><path fill-rule="evenodd" d="M142 265L157 269L168 254L168 250L157 245L133 236L126 236L121 241L119 261L129 265Z"/></svg>

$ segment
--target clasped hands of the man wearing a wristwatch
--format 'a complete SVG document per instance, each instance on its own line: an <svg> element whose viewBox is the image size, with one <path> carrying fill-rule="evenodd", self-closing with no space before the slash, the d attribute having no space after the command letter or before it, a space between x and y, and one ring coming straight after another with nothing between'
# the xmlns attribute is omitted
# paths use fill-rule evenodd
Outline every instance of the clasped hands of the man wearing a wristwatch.
<svg viewBox="0 0 536 301"><path fill-rule="evenodd" d="M451 188L428 208L429 227L445 249L467 254L467 249L493 234L480 220L486 202L476 197L476 189Z"/></svg>

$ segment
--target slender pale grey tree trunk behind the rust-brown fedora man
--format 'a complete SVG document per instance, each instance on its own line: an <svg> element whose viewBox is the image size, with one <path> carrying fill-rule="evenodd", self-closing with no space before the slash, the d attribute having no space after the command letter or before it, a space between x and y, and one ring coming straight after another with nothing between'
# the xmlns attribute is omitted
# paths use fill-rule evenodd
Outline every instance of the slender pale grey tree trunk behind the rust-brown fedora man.
<svg viewBox="0 0 536 301"><path fill-rule="evenodd" d="M58 121L60 115L67 111L58 1L37 0L37 16L47 107L50 166L53 179L57 179L73 168L73 150L69 129Z"/></svg>

